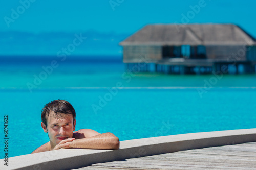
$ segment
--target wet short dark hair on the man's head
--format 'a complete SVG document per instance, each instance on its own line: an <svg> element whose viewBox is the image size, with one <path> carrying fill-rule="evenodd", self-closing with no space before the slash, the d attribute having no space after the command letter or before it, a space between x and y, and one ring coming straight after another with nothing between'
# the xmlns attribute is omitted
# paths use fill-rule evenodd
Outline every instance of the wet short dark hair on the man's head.
<svg viewBox="0 0 256 170"><path fill-rule="evenodd" d="M46 104L44 108L42 108L41 111L41 120L42 123L44 123L47 127L47 118L49 117L49 114L53 111L57 117L61 117L61 113L63 114L72 114L73 115L73 124L76 119L76 111L73 108L73 106L65 100L54 100L50 103Z"/></svg>

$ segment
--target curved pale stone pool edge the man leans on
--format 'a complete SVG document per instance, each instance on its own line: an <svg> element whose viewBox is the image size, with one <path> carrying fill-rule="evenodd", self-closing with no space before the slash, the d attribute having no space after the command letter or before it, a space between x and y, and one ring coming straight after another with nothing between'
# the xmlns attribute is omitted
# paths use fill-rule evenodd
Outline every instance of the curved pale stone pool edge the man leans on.
<svg viewBox="0 0 256 170"><path fill-rule="evenodd" d="M76 169L95 163L256 141L255 129L188 133L120 141L119 150L63 149L1 159L0 169Z"/></svg>

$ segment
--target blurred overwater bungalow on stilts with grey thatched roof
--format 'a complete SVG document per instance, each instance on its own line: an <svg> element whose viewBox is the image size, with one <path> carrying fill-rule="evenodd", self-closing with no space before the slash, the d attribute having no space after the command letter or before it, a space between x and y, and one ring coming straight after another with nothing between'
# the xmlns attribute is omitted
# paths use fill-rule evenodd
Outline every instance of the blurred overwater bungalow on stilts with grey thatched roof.
<svg viewBox="0 0 256 170"><path fill-rule="evenodd" d="M147 25L120 42L132 72L255 72L256 40L233 24Z"/></svg>

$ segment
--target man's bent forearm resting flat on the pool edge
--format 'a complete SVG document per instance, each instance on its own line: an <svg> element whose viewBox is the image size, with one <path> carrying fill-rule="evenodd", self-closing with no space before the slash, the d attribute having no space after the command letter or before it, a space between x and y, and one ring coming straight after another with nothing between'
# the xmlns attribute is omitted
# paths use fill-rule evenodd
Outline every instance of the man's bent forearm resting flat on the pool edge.
<svg viewBox="0 0 256 170"><path fill-rule="evenodd" d="M119 139L112 133L102 133L90 138L73 140L69 142L69 147L83 149L118 149Z"/></svg>

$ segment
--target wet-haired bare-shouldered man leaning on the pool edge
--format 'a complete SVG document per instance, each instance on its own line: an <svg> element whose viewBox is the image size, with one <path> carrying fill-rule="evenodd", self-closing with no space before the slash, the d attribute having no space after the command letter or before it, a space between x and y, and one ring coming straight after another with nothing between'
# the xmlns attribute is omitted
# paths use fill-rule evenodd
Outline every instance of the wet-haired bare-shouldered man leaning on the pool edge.
<svg viewBox="0 0 256 170"><path fill-rule="evenodd" d="M112 133L98 133L91 129L75 131L76 112L65 100L54 100L41 111L41 126L50 141L32 153L69 149L118 149L119 139ZM75 132L73 132L75 131Z"/></svg>

